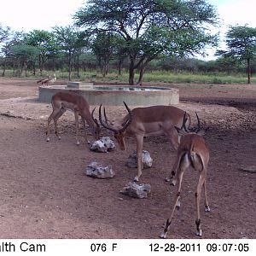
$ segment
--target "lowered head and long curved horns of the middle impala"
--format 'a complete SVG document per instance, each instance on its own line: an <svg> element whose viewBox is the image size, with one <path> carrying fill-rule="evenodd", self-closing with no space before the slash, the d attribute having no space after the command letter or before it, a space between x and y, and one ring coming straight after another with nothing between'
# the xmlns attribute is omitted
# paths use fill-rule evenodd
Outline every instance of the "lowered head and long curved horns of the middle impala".
<svg viewBox="0 0 256 256"><path fill-rule="evenodd" d="M99 110L99 120L100 120L102 126L110 131L113 131L113 137L115 137L115 139L119 143L119 148L121 150L125 150L125 133L126 133L127 127L131 124L131 121L132 121L131 109L128 108L128 106L126 105L125 102L124 102L124 104L125 104L125 108L128 111L128 115L127 115L127 119L125 119L125 122L121 125L121 128L119 128L119 129L114 128L113 126L110 126L108 124L109 122L108 122L105 108L104 108L104 120L102 120L102 104L101 104L100 110Z"/></svg>

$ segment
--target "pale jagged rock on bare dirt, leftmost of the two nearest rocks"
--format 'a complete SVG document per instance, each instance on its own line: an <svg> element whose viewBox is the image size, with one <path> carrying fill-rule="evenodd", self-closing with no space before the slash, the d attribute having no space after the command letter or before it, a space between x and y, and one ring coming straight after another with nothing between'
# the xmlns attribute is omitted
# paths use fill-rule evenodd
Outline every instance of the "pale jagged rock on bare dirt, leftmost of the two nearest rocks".
<svg viewBox="0 0 256 256"><path fill-rule="evenodd" d="M115 175L112 166L103 167L101 164L97 162L91 162L90 165L86 167L85 172L87 176L98 178L109 178L114 177Z"/></svg>

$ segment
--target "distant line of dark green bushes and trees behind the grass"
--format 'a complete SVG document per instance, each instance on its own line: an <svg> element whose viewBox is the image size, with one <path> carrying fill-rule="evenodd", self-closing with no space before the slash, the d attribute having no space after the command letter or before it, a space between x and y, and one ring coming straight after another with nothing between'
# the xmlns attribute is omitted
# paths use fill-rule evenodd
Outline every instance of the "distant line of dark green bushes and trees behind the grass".
<svg viewBox="0 0 256 256"><path fill-rule="evenodd" d="M0 56L0 75L12 77L31 77L42 76L45 73L60 72L65 73L71 69L76 78L79 78L81 72L102 73L96 55L91 52L79 55L79 60L73 59L71 67L68 65L68 56L58 54L44 62L44 69L38 67L38 63L32 60L20 62L17 56L9 56L7 58ZM108 63L108 71L117 73L126 72L129 69L129 61L125 59L120 66L119 60L114 58ZM8 70L8 72L6 72ZM139 69L138 69L139 70ZM213 61L202 61L194 58L171 58L163 57L148 63L149 71L169 71L169 72L188 72L188 73L247 73L247 66L244 62L227 60L220 57ZM43 73L42 73L43 72ZM251 64L251 74L256 72L256 61Z"/></svg>

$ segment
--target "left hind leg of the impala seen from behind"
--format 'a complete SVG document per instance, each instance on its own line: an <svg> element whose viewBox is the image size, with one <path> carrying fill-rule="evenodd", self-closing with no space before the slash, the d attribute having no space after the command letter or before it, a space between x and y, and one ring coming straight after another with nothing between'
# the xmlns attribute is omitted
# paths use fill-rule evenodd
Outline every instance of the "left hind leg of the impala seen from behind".
<svg viewBox="0 0 256 256"><path fill-rule="evenodd" d="M175 212L175 209L177 209L179 207L180 190L181 190L182 181L183 181L183 170L178 169L177 170L178 186L177 186L177 192L176 192L176 195L175 195L175 198L174 198L174 202L173 202L173 206L172 206L172 213L171 213L170 218L167 218L167 220L166 220L166 226L165 226L165 229L160 234L160 238L166 238L167 231L169 230L169 227L172 224L172 219L173 219L173 214Z"/></svg>

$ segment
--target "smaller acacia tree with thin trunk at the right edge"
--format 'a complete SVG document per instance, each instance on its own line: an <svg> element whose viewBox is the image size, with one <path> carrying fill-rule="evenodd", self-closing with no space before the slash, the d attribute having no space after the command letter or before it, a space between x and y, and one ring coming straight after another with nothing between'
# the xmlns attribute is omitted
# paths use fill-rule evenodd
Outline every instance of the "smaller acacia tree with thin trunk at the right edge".
<svg viewBox="0 0 256 256"><path fill-rule="evenodd" d="M247 80L251 83L251 61L256 55L256 28L230 26L226 33L227 50L218 50L216 55L247 62Z"/></svg>

